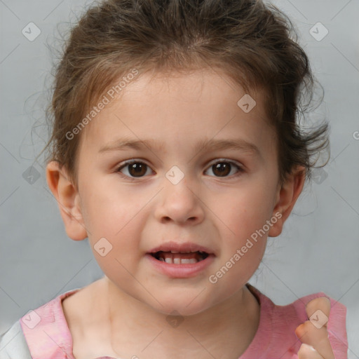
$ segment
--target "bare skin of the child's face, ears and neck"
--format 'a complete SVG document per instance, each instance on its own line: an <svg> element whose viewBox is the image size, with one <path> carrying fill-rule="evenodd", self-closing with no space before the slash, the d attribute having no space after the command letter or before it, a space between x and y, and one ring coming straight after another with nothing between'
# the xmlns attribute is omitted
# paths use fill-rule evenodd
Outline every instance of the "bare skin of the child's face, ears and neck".
<svg viewBox="0 0 359 359"><path fill-rule="evenodd" d="M263 94L252 94L257 104L248 113L237 105L243 95L240 86L208 69L154 79L144 74L82 130L77 186L65 167L48 163L48 185L67 235L74 241L88 237L105 274L97 290L85 288L69 297L72 304L64 302L76 359L89 353L235 359L249 346L259 305L245 283L259 266L267 237L281 233L304 175L297 168L280 186L276 136L266 121ZM100 151L120 137L163 147ZM255 144L259 156L243 149L194 149L201 140L238 138ZM133 177L130 165L118 171L133 158L147 165L142 177ZM212 165L228 161L243 171L231 165L220 177ZM177 184L165 176L174 165L184 175ZM210 283L210 275L278 213L269 231ZM104 257L94 248L100 238L112 246ZM205 245L215 259L196 276L168 278L145 257L165 241ZM177 327L166 320L172 311L184 319Z"/></svg>

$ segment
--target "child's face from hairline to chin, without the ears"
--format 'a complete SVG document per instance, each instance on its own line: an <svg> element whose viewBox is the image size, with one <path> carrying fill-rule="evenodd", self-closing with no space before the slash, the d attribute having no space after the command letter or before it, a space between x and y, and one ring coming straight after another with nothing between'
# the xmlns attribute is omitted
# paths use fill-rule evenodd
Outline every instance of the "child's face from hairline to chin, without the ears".
<svg viewBox="0 0 359 359"><path fill-rule="evenodd" d="M237 104L243 90L206 71L151 82L144 75L122 94L81 134L76 196L91 248L119 290L162 313L198 313L241 290L268 234L281 231L282 220L271 220L280 212L280 187L262 95L245 113ZM123 137L155 147L103 150ZM198 148L205 140L238 141L243 149ZM117 170L133 158L136 165ZM94 249L100 238L103 257ZM148 252L169 241L205 246L208 264L187 275L163 271L170 265Z"/></svg>

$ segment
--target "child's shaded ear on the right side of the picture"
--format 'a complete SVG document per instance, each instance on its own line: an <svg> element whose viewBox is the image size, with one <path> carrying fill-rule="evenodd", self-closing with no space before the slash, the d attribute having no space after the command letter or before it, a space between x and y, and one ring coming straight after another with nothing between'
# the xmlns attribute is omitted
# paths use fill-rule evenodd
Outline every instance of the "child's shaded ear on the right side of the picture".
<svg viewBox="0 0 359 359"><path fill-rule="evenodd" d="M289 217L290 212L297 202L299 194L301 194L306 175L306 168L303 166L297 166L290 175L287 175L284 184L280 186L276 193L276 203L273 209L273 217L278 220L269 230L269 237L276 237L282 233L283 224ZM280 215L279 215L280 214Z"/></svg>

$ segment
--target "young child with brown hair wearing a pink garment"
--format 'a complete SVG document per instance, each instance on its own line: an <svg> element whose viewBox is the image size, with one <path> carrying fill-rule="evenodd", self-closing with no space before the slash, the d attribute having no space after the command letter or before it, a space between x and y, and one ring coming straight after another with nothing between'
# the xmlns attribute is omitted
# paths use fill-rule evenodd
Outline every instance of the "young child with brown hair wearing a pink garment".
<svg viewBox="0 0 359 359"><path fill-rule="evenodd" d="M346 307L248 283L327 125L291 23L254 0L107 0L57 68L46 176L104 277L30 311L0 358L346 358Z"/></svg>

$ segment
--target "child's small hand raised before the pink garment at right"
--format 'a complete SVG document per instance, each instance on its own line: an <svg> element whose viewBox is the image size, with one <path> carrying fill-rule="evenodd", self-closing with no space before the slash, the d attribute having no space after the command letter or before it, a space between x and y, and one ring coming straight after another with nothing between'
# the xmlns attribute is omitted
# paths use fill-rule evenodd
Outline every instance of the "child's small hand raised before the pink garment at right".
<svg viewBox="0 0 359 359"><path fill-rule="evenodd" d="M308 318L311 318L313 314L314 316L311 320L306 320L306 322L299 325L295 330L295 334L303 343L299 348L298 358L335 359L327 332L330 300L326 297L311 300L306 304L306 314Z"/></svg>

